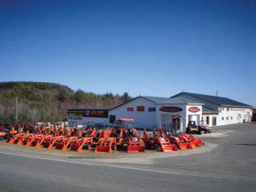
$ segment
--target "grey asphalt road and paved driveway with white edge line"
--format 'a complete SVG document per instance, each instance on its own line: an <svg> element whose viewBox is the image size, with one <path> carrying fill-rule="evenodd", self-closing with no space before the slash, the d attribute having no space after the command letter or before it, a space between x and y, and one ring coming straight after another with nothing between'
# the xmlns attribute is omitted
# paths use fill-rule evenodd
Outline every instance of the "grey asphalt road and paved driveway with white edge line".
<svg viewBox="0 0 256 192"><path fill-rule="evenodd" d="M0 150L0 191L256 191L256 124L203 137L217 148L153 165L67 159Z"/></svg>

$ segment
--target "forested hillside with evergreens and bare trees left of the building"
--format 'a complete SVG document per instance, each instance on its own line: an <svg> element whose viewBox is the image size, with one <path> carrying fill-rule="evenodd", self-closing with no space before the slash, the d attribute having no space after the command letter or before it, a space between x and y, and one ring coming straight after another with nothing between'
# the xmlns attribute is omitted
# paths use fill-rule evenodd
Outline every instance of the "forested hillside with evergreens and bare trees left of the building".
<svg viewBox="0 0 256 192"><path fill-rule="evenodd" d="M67 119L67 108L112 108L130 99L126 92L122 96L97 95L74 91L62 84L3 82L0 83L0 123L15 123L16 106L18 123L55 122Z"/></svg>

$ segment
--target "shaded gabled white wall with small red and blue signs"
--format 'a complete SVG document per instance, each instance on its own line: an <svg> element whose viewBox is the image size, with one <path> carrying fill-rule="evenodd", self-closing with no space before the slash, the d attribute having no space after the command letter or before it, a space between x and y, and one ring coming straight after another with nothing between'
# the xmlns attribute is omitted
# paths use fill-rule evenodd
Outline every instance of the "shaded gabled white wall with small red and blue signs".
<svg viewBox="0 0 256 192"><path fill-rule="evenodd" d="M137 106L144 106L145 111L137 112ZM127 111L127 108L133 108L134 111ZM109 115L116 115L116 119L131 118L134 123L140 128L152 128L155 125L155 112L148 112L148 108L155 108L154 102L149 101L143 97L127 102L119 108L114 108L109 111Z"/></svg>

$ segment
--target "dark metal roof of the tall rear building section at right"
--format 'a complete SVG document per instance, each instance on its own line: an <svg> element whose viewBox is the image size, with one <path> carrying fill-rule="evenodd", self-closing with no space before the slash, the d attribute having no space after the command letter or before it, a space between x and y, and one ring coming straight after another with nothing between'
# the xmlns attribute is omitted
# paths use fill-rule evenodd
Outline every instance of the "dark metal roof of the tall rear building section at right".
<svg viewBox="0 0 256 192"><path fill-rule="evenodd" d="M181 96L181 95L194 96L195 98L199 98L199 99L201 99L203 101L206 101L206 102L212 102L212 103L218 104L220 106L234 106L234 107L249 107L249 108L252 108L252 106L250 106L250 105L247 105L247 104L242 103L242 102L236 102L235 100L232 100L232 99L227 98L227 97L222 97L222 96L208 96L208 95L198 94L198 93L181 92L181 93L177 94L176 96L172 96L172 97L177 97L177 96Z"/></svg>

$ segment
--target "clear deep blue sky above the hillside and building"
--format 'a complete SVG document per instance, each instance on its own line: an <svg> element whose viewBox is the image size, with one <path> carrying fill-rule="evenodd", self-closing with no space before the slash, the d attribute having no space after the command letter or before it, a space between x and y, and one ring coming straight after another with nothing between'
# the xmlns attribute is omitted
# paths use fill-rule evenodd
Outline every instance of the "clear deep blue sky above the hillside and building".
<svg viewBox="0 0 256 192"><path fill-rule="evenodd" d="M256 1L0 1L0 81L256 106Z"/></svg>

